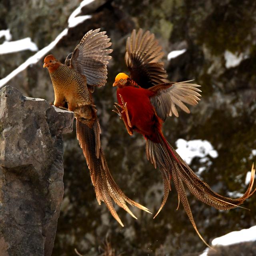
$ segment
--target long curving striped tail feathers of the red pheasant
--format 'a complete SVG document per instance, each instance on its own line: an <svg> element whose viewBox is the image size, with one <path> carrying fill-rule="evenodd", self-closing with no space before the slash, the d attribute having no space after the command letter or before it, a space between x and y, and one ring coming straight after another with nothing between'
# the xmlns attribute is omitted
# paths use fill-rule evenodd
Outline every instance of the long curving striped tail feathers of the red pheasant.
<svg viewBox="0 0 256 256"><path fill-rule="evenodd" d="M158 139L159 143L146 140L146 154L148 160L150 160L150 162L155 167L158 166L162 174L164 184L163 201L154 218L159 214L164 204L166 203L169 191L171 190L170 180L172 179L178 193L179 203L182 203L184 210L188 215L188 218L190 219L190 222L192 223L198 236L208 247L211 248L211 246L209 246L209 244L207 244L206 241L202 238L196 227L184 185L186 185L188 190L194 196L196 196L198 200L213 206L218 210L229 210L235 207L241 207L239 205L242 204L247 198L252 196L252 194L254 194L256 191L256 188L253 189L255 176L254 164L252 165L250 184L244 195L237 199L228 198L214 192L206 182L200 180L200 178L198 178L198 176L196 176L196 174L184 162L184 160L182 160L182 158L166 141L163 134L160 132L158 133Z"/></svg>

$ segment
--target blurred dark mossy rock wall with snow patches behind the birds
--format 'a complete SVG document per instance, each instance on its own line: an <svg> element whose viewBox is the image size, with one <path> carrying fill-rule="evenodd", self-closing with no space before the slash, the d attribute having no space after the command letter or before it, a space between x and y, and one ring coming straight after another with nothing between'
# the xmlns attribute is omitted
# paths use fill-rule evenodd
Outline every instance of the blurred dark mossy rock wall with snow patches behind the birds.
<svg viewBox="0 0 256 256"><path fill-rule="evenodd" d="M74 22L77 14L90 16L79 23ZM127 72L126 38L134 28L150 30L166 52L168 78L194 79L202 86L202 99L197 106L189 107L191 114L180 111L179 118L166 120L167 140L177 148L177 140L184 139L179 141L186 150L202 153L192 154L188 161L191 168L214 191L237 197L246 190L246 173L256 159L255 22L254 0L1 0L0 85L8 84L25 96L53 102L50 76L43 69L44 57L54 54L64 63L88 30L106 30L113 58L106 86L93 94L102 145L117 184L127 196L156 213L163 195L160 172L146 159L142 136L129 136L123 122L111 111L116 102L114 78L119 72ZM28 38L24 48L17 51L17 44L23 45L18 41L11 51L6 50L6 43L24 38ZM182 51L173 52L176 50ZM8 76L20 65L21 72ZM202 141L208 146L210 143L210 151ZM75 131L64 136L64 186L53 256L76 255L74 248L88 256L199 255L205 249L182 206L176 210L178 199L173 186L156 219L133 209L138 217L135 220L118 208L125 225L122 228L106 206L96 201ZM243 205L250 211L218 211L189 194L188 200L198 230L207 242L256 225L255 195ZM248 247L252 248L250 244ZM104 254L107 250L113 254ZM235 255L222 253L218 255Z"/></svg>

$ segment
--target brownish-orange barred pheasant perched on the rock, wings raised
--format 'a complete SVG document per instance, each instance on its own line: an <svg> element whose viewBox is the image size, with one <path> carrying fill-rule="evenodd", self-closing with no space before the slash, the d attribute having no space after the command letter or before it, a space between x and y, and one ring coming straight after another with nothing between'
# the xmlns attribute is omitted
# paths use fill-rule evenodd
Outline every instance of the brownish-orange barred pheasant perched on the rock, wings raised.
<svg viewBox="0 0 256 256"><path fill-rule="evenodd" d="M148 209L128 198L114 182L100 144L100 124L96 115L96 106L92 99L95 86L104 86L107 78L108 56L112 52L110 38L100 29L90 30L68 54L65 65L53 55L44 59L44 68L48 68L54 88L54 106L74 111L76 118L76 136L90 170L90 176L96 198L103 201L114 218L122 225L112 199L120 207L136 218L126 202L148 212Z"/></svg>

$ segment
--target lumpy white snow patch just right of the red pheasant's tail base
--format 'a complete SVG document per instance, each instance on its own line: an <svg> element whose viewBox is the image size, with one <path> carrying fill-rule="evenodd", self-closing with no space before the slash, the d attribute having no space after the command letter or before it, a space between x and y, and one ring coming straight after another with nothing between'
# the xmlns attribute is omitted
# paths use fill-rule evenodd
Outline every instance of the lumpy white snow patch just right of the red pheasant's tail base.
<svg viewBox="0 0 256 256"><path fill-rule="evenodd" d="M202 158L202 162L207 162L209 160L209 158L206 158L208 155L212 158L218 157L218 152L214 150L212 144L207 140L186 141L184 139L178 139L176 141L176 146L177 153L188 165L191 164L195 157Z"/></svg>

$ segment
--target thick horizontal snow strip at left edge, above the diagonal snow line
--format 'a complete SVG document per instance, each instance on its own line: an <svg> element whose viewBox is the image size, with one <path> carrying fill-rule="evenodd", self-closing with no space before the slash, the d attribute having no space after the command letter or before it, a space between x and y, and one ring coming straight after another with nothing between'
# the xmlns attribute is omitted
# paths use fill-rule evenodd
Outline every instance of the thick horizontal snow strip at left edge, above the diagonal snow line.
<svg viewBox="0 0 256 256"><path fill-rule="evenodd" d="M36 52L38 51L38 47L34 42L31 41L31 38L29 37L11 42L4 41L2 44L0 44L0 54L20 52L24 50Z"/></svg>

